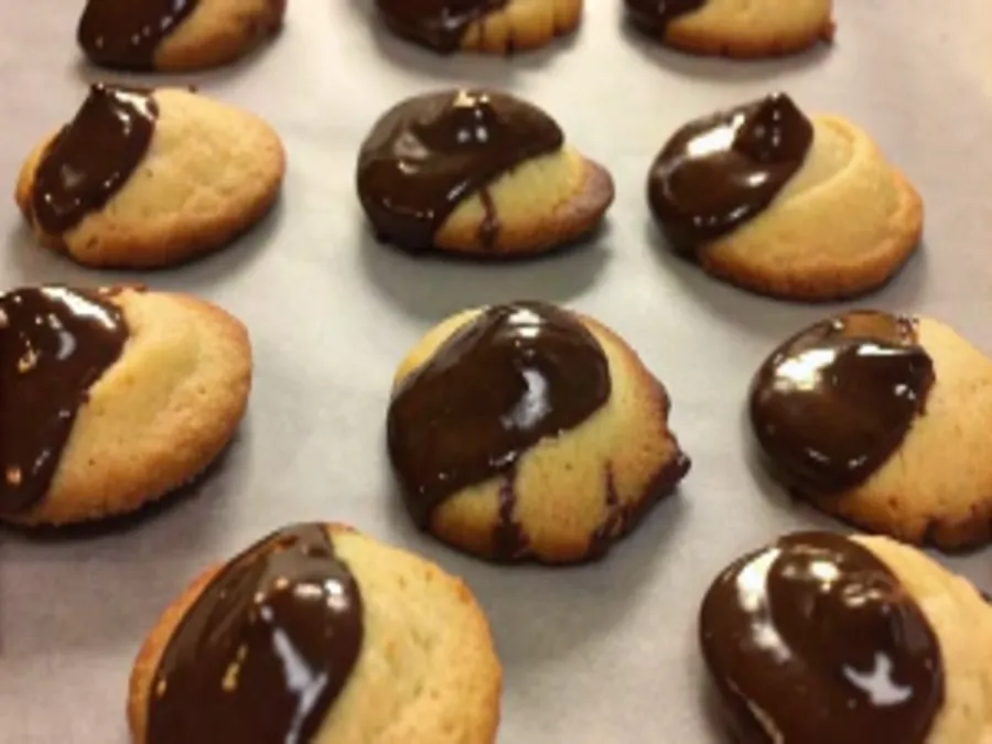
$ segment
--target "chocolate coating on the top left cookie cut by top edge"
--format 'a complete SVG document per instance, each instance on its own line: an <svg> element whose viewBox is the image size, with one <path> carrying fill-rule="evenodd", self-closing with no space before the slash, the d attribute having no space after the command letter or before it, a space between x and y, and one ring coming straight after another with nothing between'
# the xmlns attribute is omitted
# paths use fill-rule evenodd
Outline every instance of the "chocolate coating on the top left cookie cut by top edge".
<svg viewBox="0 0 992 744"><path fill-rule="evenodd" d="M76 39L98 65L152 69L159 44L197 4L198 0L89 0Z"/></svg>

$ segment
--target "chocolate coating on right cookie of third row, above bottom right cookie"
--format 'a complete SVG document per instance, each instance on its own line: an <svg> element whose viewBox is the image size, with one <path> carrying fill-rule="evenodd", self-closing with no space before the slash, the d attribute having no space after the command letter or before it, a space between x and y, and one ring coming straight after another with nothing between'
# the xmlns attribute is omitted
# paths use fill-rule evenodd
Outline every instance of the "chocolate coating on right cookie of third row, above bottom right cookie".
<svg viewBox="0 0 992 744"><path fill-rule="evenodd" d="M902 444L932 382L934 363L912 320L852 312L772 354L752 384L751 421L778 474L800 494L842 492Z"/></svg>

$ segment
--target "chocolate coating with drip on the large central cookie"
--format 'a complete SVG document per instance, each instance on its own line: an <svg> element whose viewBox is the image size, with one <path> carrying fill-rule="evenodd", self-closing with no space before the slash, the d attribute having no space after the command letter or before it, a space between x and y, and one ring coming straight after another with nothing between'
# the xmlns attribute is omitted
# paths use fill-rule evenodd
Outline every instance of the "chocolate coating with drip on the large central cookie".
<svg viewBox="0 0 992 744"><path fill-rule="evenodd" d="M387 435L407 508L424 527L445 498L496 475L544 438L579 425L610 398L610 365L571 313L538 302L489 308L466 323L392 397ZM502 499L497 548L520 548Z"/></svg>

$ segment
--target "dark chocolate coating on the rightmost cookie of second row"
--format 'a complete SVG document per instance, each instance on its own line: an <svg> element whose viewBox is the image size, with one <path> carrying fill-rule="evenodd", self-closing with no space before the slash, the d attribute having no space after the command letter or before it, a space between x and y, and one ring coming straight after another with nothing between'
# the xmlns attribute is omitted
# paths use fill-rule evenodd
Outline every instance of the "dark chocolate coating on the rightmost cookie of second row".
<svg viewBox="0 0 992 744"><path fill-rule="evenodd" d="M694 256L759 214L812 140L812 125L781 93L682 127L648 175L648 202L672 247Z"/></svg>

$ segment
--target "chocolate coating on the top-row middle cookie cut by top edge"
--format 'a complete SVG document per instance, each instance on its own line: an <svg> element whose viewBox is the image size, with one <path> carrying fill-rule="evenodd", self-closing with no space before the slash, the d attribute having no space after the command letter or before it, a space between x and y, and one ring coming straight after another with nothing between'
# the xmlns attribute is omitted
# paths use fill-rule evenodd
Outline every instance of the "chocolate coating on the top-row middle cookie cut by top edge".
<svg viewBox="0 0 992 744"><path fill-rule="evenodd" d="M506 7L509 0L376 0L393 32L418 44L451 54L468 26Z"/></svg>

